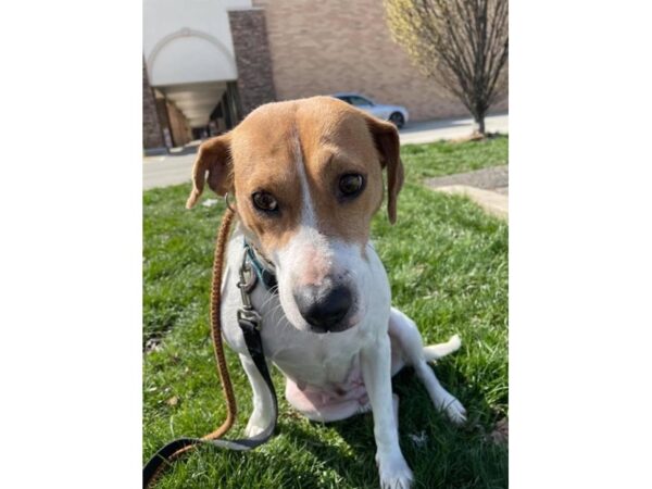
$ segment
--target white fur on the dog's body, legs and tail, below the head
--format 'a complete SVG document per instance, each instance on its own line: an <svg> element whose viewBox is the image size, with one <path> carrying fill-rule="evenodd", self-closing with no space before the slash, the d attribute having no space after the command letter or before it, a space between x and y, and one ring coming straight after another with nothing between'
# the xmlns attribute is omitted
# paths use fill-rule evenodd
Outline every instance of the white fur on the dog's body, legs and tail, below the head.
<svg viewBox="0 0 652 489"><path fill-rule="evenodd" d="M228 246L222 318L224 337L240 353L253 389L253 412L247 425L247 435L254 436L269 422L272 400L262 377L251 363L242 334L235 321L236 311L240 306L240 292L236 284L242 249L242 234L237 230ZM348 253L342 254L347 256ZM366 248L366 256L368 261L362 258L353 260L349 250L349 258L344 259L351 266L352 262L356 262L354 276L359 290L365 292L361 322L351 329L314 334L304 324L293 324L280 299L286 288L291 289L291 284L286 281L291 274L278 275L278 296L269 294L264 287L256 287L252 299L263 316L265 355L291 381L325 387L341 383L348 377L352 365L359 362L374 412L374 435L378 448L376 461L381 487L406 488L411 485L412 473L399 447L398 424L392 409L391 375L403 365L412 365L435 406L444 411L451 421L463 423L464 408L441 387L431 367L427 365L428 361L456 350L460 339L453 337L447 343L424 348L414 323L397 309L390 308L387 274L371 244ZM280 269L284 269L283 265ZM351 414L361 411L364 410L352 408Z"/></svg>

